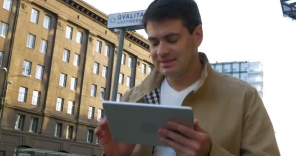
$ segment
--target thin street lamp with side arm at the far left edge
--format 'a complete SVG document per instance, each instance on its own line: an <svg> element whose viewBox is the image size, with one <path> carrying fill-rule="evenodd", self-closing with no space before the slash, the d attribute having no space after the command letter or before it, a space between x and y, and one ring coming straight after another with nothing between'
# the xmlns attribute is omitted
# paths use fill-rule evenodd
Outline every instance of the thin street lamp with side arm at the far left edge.
<svg viewBox="0 0 296 156"><path fill-rule="evenodd" d="M8 81L9 77L25 77L25 78L31 78L31 75L12 75L8 77L7 68L0 67L0 70L3 70L5 72L5 78L4 78L4 87L3 87L3 97L1 97L1 105L0 105L0 144L1 144L1 132L2 132L2 119L3 119L3 112L4 112L4 106L5 106L5 99L6 99L6 93L7 93L7 86L8 84L12 84L12 81Z"/></svg>

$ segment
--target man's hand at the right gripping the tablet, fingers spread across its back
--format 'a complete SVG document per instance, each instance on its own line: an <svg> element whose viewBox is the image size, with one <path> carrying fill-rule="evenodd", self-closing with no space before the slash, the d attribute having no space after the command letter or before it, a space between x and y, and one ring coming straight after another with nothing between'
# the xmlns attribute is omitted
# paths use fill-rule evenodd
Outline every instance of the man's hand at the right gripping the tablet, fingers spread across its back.
<svg viewBox="0 0 296 156"><path fill-rule="evenodd" d="M174 149L178 156L209 156L211 151L210 134L194 119L194 129L177 122L168 121L168 129L160 128L161 141Z"/></svg>

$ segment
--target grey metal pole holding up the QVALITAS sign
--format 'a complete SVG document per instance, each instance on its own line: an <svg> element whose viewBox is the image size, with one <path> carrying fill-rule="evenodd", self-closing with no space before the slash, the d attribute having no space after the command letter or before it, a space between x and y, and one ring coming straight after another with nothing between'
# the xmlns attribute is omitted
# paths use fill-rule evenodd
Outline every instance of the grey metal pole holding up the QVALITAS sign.
<svg viewBox="0 0 296 156"><path fill-rule="evenodd" d="M116 97L117 97L118 79L119 79L119 73L120 73L121 57L122 57L125 34L126 34L126 29L121 28L118 50L117 50L117 60L116 60L116 66L115 66L115 72L114 72L114 82L113 82L111 101L116 101Z"/></svg>

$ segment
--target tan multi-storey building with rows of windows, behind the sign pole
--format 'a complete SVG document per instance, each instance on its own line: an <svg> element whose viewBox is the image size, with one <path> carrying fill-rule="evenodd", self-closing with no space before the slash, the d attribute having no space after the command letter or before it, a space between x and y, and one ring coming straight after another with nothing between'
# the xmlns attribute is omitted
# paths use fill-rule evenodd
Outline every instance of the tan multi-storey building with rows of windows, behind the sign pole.
<svg viewBox="0 0 296 156"><path fill-rule="evenodd" d="M0 156L101 155L94 129L111 99L119 38L107 20L82 0L0 0L3 98L9 82ZM126 33L117 100L151 71L148 48Z"/></svg>

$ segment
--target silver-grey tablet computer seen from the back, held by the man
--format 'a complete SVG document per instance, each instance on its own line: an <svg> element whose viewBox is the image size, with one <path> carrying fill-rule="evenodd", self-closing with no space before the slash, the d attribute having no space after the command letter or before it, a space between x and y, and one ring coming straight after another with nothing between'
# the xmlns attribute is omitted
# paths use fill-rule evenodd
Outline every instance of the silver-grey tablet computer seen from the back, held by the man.
<svg viewBox="0 0 296 156"><path fill-rule="evenodd" d="M112 139L118 142L166 146L158 129L167 128L167 121L194 127L191 107L132 102L103 102Z"/></svg>

